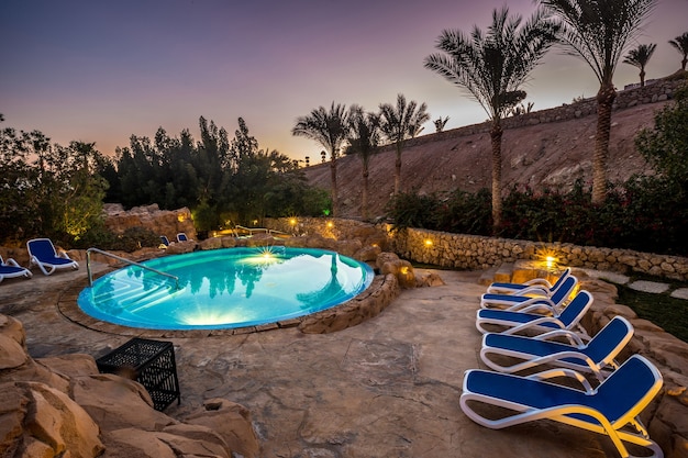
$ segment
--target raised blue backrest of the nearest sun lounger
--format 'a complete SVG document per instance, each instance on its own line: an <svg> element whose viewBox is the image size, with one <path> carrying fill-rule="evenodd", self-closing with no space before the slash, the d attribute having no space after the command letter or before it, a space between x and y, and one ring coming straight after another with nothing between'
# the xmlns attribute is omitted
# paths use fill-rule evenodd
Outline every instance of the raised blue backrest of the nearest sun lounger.
<svg viewBox="0 0 688 458"><path fill-rule="evenodd" d="M657 368L644 357L633 355L600 383L590 403L612 424L624 424L645 409L662 383Z"/></svg>

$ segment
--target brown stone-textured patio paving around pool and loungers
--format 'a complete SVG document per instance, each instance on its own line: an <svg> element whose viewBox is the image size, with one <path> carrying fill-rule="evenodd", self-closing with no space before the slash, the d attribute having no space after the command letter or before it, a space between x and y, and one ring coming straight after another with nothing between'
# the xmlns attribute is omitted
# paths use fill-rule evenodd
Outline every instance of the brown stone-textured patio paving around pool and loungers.
<svg viewBox="0 0 688 458"><path fill-rule="evenodd" d="M491 431L463 414L463 372L481 366L474 323L485 288L480 272L437 273L446 286L404 290L379 316L333 334L165 338L181 384L181 404L166 413L181 417L215 396L241 403L268 458L615 456L609 439L553 422ZM131 338L58 312L60 295L85 279L82 266L0 284L0 313L23 322L34 358L98 357Z"/></svg>

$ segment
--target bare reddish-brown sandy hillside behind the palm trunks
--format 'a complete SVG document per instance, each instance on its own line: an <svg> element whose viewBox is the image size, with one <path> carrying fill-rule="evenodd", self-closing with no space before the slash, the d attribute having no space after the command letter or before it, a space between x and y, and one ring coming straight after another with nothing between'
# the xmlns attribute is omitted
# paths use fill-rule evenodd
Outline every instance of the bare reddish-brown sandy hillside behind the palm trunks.
<svg viewBox="0 0 688 458"><path fill-rule="evenodd" d="M639 130L654 125L654 114L667 102L637 104L612 113L609 150L609 179L625 180L644 172L647 165L636 152ZM567 189L575 180L592 180L592 153L597 115L595 113L558 122L537 123L504 130L502 142L503 189L545 185ZM460 188L476 191L491 185L490 137L485 126L460 127L415 138L404 148L401 166L402 190L422 193ZM462 132L458 132L462 131ZM469 131L473 131L469 132ZM330 163L308 167L311 185L330 190ZM370 215L385 214L393 190L395 150L385 147L370 160ZM357 156L337 160L340 216L360 215L362 164Z"/></svg>

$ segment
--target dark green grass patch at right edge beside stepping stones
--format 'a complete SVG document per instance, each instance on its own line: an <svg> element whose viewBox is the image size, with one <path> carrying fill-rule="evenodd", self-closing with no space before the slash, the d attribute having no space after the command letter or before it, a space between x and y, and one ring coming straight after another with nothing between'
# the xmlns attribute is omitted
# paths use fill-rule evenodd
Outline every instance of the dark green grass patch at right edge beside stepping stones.
<svg viewBox="0 0 688 458"><path fill-rule="evenodd" d="M662 279L653 279L653 281L666 282ZM679 287L686 286L672 284L669 291ZM630 306L641 319L653 322L667 333L688 343L688 300L672 298L668 292L654 294L635 291L623 284L617 284L617 289L619 291L617 303Z"/></svg>

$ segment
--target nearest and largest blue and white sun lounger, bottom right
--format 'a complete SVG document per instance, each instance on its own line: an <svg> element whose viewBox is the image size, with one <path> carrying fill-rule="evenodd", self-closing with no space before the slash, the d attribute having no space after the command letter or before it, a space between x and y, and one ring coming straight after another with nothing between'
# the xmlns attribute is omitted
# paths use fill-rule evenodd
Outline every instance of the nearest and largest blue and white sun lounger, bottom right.
<svg viewBox="0 0 688 458"><path fill-rule="evenodd" d="M468 370L464 376L460 407L470 420L492 429L547 418L609 436L622 457L630 456L624 443L647 448L652 457L664 456L639 418L663 383L662 375L652 362L634 355L599 387L591 389L588 384L585 391L545 381L565 371L519 377ZM575 377L576 373L568 371L566 375ZM498 405L513 414L488 418L474 410L478 403Z"/></svg>

